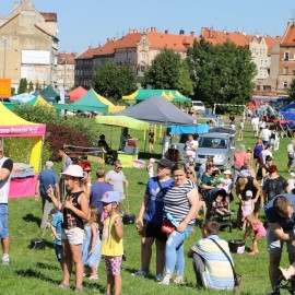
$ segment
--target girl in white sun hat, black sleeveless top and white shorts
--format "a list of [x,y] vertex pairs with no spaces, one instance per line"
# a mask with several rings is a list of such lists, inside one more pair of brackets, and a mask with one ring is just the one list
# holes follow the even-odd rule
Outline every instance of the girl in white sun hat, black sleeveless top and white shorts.
[[88,199],[81,189],[83,169],[79,165],[70,165],[64,173],[68,194],[62,203],[55,197],[50,187],[47,194],[54,204],[63,213],[61,224],[61,240],[63,249],[63,280],[59,284],[60,288],[70,287],[70,276],[72,272],[72,262],[75,266],[75,291],[82,292],[83,263],[81,259],[81,249],[84,236],[84,223],[88,216]]

